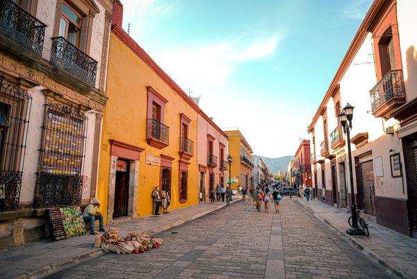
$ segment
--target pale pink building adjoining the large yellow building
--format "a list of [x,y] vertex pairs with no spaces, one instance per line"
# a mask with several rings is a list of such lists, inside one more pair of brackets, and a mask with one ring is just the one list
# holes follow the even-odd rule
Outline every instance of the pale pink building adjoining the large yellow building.
[[227,134],[200,111],[197,141],[199,202],[209,201],[209,192],[216,186],[226,186],[227,138]]

